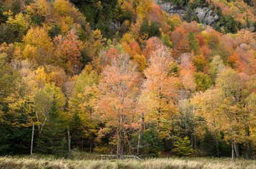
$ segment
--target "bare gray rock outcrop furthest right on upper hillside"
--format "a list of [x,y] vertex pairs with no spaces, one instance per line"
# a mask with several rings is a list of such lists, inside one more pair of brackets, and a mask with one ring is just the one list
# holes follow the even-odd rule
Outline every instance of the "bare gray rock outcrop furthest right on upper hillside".
[[196,14],[200,23],[210,25],[210,26],[213,26],[214,23],[216,23],[216,21],[219,19],[219,16],[215,14],[214,11],[206,7],[203,7],[203,8],[197,7]]

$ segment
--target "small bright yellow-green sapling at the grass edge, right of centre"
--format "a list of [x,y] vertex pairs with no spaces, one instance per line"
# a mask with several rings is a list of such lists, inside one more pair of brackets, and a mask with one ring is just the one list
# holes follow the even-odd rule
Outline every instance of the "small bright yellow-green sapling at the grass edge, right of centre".
[[183,139],[178,138],[174,143],[174,147],[172,152],[175,152],[179,156],[189,156],[193,153],[192,144],[190,143],[188,136]]

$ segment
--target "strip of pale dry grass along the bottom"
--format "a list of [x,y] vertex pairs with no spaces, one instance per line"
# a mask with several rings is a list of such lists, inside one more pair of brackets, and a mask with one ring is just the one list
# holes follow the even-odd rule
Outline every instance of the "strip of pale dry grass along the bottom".
[[0,168],[250,168],[256,169],[256,161],[228,158],[152,158],[136,159],[57,159],[50,156],[0,157]]

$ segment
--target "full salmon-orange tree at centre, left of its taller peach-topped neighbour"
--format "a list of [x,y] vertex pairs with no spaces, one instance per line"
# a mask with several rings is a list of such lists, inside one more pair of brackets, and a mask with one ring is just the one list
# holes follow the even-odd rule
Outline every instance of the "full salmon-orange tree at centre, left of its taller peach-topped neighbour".
[[140,73],[128,55],[121,54],[112,60],[102,72],[99,82],[97,115],[105,128],[99,131],[99,137],[112,136],[112,144],[117,145],[116,153],[123,155],[125,138],[137,128],[136,104],[140,90]]

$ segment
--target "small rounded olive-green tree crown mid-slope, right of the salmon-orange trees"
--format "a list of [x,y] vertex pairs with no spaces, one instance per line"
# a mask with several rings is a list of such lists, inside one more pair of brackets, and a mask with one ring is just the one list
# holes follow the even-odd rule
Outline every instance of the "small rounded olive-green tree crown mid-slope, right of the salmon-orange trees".
[[195,73],[194,77],[195,77],[195,82],[197,83],[198,91],[205,91],[211,87],[212,81],[208,75],[199,72],[199,73]]

